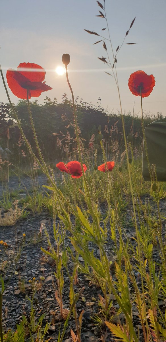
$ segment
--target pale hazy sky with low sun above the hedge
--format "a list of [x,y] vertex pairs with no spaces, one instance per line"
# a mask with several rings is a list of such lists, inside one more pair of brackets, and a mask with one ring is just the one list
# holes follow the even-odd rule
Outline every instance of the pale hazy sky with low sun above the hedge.
[[[166,116],[166,1],[105,0],[105,6],[114,51],[136,16],[125,40],[136,45],[123,45],[117,56],[123,110],[133,111],[135,101],[135,113],[140,112],[140,97],[134,96],[127,84],[131,73],[144,70],[156,80],[150,96],[143,99],[144,110],[153,114],[162,111]],[[99,10],[95,0],[1,0],[0,62],[4,75],[7,68],[16,69],[19,63],[37,63],[47,71],[45,81],[53,88],[37,100],[43,103],[48,96],[61,102],[64,92],[69,98],[71,95],[65,76],[58,76],[54,69],[62,66],[62,54],[69,53],[69,78],[75,97],[96,104],[100,96],[102,107],[119,109],[115,81],[104,73],[109,70],[97,58],[107,55],[102,43],[93,45],[100,37],[84,31],[107,34],[107,30],[101,31],[106,27],[105,19],[95,17]],[[17,103],[19,99],[9,93]],[[2,101],[7,102],[7,97],[0,79]]]

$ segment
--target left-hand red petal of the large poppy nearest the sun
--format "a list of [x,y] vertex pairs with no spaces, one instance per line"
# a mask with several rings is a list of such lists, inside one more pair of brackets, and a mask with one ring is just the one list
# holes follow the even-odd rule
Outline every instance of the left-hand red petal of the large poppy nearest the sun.
[[[26,82],[27,78],[19,75],[16,70],[9,69],[6,72],[6,79],[9,88],[12,93],[16,95],[18,98],[27,99],[27,89],[22,88],[20,82]],[[29,92],[29,98],[31,98],[31,92]]]

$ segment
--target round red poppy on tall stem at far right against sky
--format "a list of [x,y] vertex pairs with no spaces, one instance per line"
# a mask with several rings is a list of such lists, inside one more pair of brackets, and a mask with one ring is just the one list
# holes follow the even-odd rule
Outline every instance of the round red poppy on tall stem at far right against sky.
[[155,86],[155,79],[153,75],[147,75],[144,71],[138,70],[130,75],[128,86],[133,95],[147,97]]

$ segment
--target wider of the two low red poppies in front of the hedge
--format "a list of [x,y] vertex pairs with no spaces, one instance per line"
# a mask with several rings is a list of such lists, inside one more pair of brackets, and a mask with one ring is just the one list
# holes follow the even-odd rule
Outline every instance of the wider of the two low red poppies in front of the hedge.
[[[81,163],[77,160],[69,161],[66,165],[63,162],[59,162],[56,167],[62,171],[70,173],[72,178],[80,178],[83,173],[81,169]],[[84,172],[87,170],[87,167],[85,164],[83,164]]]

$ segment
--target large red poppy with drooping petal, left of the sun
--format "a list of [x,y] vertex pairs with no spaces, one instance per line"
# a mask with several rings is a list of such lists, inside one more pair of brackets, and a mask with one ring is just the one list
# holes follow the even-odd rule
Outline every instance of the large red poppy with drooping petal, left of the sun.
[[31,96],[38,97],[43,91],[52,89],[43,82],[45,74],[45,70],[38,64],[20,63],[17,70],[7,70],[6,78],[12,93],[26,100],[27,90],[29,90],[28,98],[31,98]]

